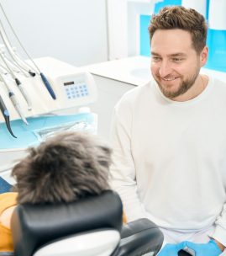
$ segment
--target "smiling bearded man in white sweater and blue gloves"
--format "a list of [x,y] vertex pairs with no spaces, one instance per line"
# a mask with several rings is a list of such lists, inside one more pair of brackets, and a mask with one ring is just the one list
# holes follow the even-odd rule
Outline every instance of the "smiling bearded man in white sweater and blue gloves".
[[161,228],[160,256],[226,246],[226,84],[200,73],[207,30],[193,9],[161,9],[149,27],[154,79],[114,109],[112,185],[129,221]]

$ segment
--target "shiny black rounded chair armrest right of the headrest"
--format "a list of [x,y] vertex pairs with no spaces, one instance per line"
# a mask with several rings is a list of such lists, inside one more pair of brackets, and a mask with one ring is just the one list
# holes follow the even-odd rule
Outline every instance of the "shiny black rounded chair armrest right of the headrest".
[[160,229],[148,219],[131,221],[124,225],[117,256],[139,256],[153,252],[156,255],[163,243]]

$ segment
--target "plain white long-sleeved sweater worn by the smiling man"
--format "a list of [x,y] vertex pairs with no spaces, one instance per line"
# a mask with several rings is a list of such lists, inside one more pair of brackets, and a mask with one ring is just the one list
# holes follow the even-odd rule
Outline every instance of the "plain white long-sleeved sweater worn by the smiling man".
[[196,232],[214,223],[226,246],[226,84],[210,78],[176,102],[153,81],[124,95],[113,115],[112,185],[128,221]]

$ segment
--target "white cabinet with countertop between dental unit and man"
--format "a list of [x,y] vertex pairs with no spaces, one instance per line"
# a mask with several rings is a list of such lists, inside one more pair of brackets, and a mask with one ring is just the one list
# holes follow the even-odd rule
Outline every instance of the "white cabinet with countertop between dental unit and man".
[[124,93],[149,82],[150,58],[134,56],[83,68],[92,73],[97,83],[97,102],[90,107],[98,115],[98,135],[108,141],[113,107]]

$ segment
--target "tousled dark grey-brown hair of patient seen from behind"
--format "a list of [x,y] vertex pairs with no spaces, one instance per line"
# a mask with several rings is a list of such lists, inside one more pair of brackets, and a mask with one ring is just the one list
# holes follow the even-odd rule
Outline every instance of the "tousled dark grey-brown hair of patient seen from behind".
[[29,148],[13,168],[18,203],[70,202],[108,186],[111,149],[97,136],[65,132]]

